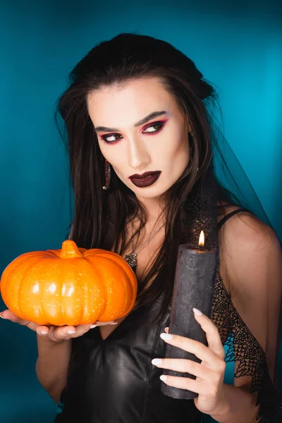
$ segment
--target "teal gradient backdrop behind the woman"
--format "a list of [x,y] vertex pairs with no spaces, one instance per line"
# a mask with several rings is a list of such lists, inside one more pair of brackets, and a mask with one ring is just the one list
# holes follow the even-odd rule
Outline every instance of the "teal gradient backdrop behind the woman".
[[[75,63],[119,32],[171,42],[214,82],[226,138],[282,238],[281,6],[226,3],[0,1],[1,272],[24,252],[61,247],[70,200],[54,103]],[[54,419],[35,376],[35,338],[0,321],[1,423]]]

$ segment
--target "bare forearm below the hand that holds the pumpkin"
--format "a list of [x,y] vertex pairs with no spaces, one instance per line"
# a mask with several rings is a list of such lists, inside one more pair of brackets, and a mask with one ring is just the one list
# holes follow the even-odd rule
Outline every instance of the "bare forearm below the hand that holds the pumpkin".
[[59,403],[61,391],[66,386],[71,342],[67,339],[56,343],[37,334],[37,379],[56,403]]

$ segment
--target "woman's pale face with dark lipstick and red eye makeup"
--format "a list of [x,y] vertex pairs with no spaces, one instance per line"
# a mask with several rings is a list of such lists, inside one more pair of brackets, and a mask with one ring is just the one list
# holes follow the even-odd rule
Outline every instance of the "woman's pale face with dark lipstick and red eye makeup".
[[[158,78],[103,87],[88,95],[87,104],[104,158],[136,197],[158,199],[171,188],[188,166],[190,128]],[[161,173],[149,186],[130,179],[155,171]]]

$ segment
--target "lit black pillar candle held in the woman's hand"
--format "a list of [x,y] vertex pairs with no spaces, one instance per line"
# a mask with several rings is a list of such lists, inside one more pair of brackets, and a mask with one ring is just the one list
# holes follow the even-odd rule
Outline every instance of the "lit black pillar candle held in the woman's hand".
[[[203,245],[204,233],[202,232],[199,246],[183,244],[178,247],[169,333],[195,339],[207,345],[206,334],[195,320],[192,309],[195,307],[210,316],[217,252],[203,247]],[[200,360],[194,354],[169,344],[166,345],[166,358],[182,358],[200,363]],[[164,374],[196,379],[191,374],[167,369],[164,369]],[[161,392],[179,399],[189,400],[197,397],[197,393],[186,389],[173,388],[164,384],[164,382],[161,383]]]

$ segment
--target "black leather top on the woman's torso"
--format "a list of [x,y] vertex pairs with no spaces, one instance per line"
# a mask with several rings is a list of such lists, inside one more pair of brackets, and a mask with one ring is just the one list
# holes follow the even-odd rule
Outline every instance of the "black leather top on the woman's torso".
[[142,307],[102,340],[99,327],[73,339],[73,359],[63,411],[56,423],[199,423],[193,400],[161,393],[163,370],[151,360],[165,357],[160,333],[168,326],[170,309],[159,324],[148,324],[160,307]]

